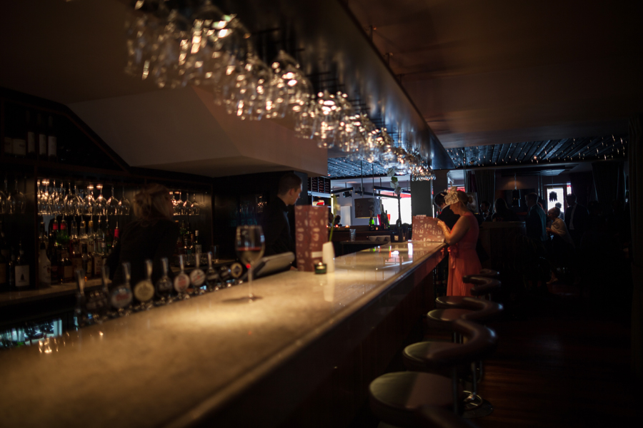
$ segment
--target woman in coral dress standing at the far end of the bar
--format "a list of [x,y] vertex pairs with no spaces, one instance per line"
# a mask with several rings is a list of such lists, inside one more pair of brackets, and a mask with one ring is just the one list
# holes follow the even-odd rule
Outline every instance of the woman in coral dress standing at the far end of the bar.
[[476,253],[479,233],[478,221],[467,208],[467,203],[472,202],[467,193],[452,188],[444,200],[449,203],[451,210],[460,216],[452,230],[449,230],[442,220],[438,220],[438,225],[442,228],[444,238],[449,245],[447,295],[470,296],[472,285],[462,282],[462,277],[475,275],[482,269]]

